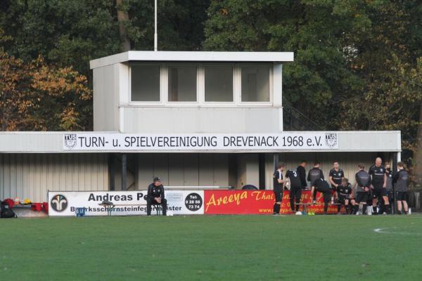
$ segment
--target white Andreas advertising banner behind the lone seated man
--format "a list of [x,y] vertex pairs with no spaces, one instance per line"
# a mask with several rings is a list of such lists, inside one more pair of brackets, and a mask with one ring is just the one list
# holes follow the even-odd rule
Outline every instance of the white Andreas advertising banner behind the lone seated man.
[[[107,216],[101,202],[115,204],[112,216],[146,215],[146,190],[137,191],[49,191],[49,216],[75,216],[84,208],[85,216]],[[174,215],[204,214],[203,190],[165,190],[167,212]],[[152,215],[157,214],[153,205]]]

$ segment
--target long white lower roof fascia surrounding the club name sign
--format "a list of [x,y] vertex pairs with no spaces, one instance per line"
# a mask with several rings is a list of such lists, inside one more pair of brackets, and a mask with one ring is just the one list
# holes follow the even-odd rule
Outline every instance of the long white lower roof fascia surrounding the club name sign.
[[[164,134],[148,134],[148,133],[118,133],[118,132],[101,132],[101,131],[13,131],[0,132],[0,153],[81,153],[81,152],[399,152],[402,150],[401,132],[400,131],[282,131],[276,133],[269,133],[271,135],[286,135],[289,134],[324,134],[322,141],[326,141],[327,134],[335,133],[337,135],[338,148],[334,149],[318,149],[318,148],[295,148],[294,150],[283,148],[266,149],[230,149],[230,150],[191,150],[190,148],[174,148],[174,150],[146,150],[143,148],[131,148],[124,150],[123,148],[113,148],[112,150],[77,150],[77,148],[68,150],[64,148],[65,136],[72,134],[84,137],[98,137],[108,135],[110,138],[122,136],[163,136]],[[219,133],[191,133],[191,134],[174,134],[169,133],[165,136],[211,136],[211,135],[229,135]],[[261,136],[262,133],[234,133],[234,136]],[[282,136],[279,137],[281,140]],[[312,137],[313,138],[313,137]],[[305,143],[305,141],[304,141]],[[119,145],[120,147],[120,145]]]

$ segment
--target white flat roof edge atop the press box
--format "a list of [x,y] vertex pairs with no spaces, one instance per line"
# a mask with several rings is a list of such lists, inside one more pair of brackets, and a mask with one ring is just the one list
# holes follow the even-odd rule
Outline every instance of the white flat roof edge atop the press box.
[[293,52],[127,51],[89,62],[91,70],[129,61],[293,62]]

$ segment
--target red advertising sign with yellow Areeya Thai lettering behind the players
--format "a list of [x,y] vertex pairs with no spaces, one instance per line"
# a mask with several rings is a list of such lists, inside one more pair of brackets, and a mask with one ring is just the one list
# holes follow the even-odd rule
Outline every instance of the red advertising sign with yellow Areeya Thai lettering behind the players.
[[[272,214],[275,202],[272,190],[205,190],[205,214]],[[302,192],[301,202],[310,202],[310,191]],[[302,210],[302,207],[300,207]],[[322,195],[316,195],[316,204],[307,207],[307,211],[321,214],[324,211]],[[342,207],[344,211],[344,207]],[[328,213],[336,214],[337,206],[328,207]],[[289,193],[283,193],[280,214],[292,214],[290,209]]]

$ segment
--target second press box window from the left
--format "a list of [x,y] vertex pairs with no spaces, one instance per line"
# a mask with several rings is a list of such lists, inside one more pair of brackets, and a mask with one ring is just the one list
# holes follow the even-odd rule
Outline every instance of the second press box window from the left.
[[196,66],[168,67],[169,101],[196,101]]

